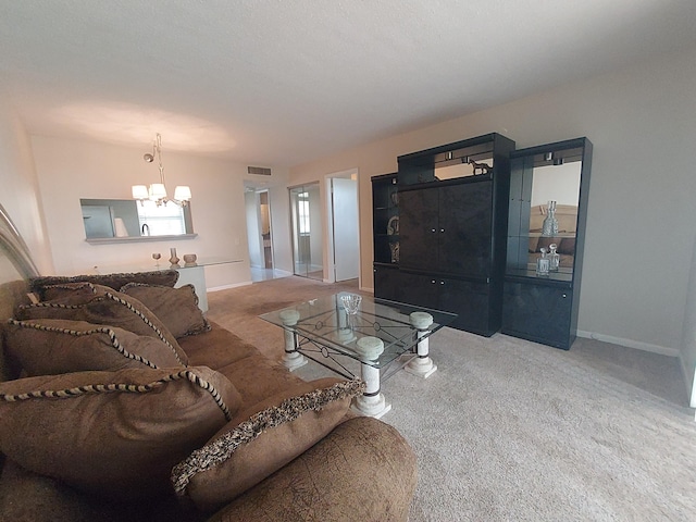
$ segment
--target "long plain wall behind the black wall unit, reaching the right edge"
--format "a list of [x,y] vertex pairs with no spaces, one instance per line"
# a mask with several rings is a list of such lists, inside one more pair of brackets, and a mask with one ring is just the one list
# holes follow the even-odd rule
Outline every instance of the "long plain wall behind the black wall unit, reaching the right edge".
[[518,148],[587,136],[595,148],[579,328],[674,355],[696,223],[695,86],[692,49],[299,165],[290,183],[359,169],[361,286],[371,288],[370,176],[395,172],[397,156],[490,132]]

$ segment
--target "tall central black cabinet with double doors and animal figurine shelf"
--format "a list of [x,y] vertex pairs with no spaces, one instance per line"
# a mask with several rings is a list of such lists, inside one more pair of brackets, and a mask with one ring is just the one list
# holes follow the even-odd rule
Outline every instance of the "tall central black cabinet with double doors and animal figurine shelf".
[[375,243],[375,297],[457,313],[460,330],[499,331],[513,149],[489,134],[398,158],[398,269],[384,273]]

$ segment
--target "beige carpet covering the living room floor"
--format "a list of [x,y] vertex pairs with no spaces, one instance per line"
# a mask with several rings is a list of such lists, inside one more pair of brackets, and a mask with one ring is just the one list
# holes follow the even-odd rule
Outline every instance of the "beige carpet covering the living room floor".
[[[263,282],[210,294],[210,318],[281,357],[282,332],[253,314],[334,291]],[[696,520],[696,423],[675,359],[451,328],[431,349],[428,380],[398,372],[383,384],[393,403],[383,420],[419,458],[412,522]],[[299,371],[323,373],[311,362]]]

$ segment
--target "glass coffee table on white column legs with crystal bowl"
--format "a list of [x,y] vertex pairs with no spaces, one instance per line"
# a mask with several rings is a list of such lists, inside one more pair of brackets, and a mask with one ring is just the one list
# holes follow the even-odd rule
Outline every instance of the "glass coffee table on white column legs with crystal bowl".
[[355,378],[358,375],[349,369],[349,362],[358,361],[366,387],[352,408],[378,419],[391,409],[380,382],[402,368],[423,378],[432,375],[437,366],[428,353],[428,337],[457,314],[339,293],[260,318],[285,331],[283,362],[290,371],[311,359],[346,378]]

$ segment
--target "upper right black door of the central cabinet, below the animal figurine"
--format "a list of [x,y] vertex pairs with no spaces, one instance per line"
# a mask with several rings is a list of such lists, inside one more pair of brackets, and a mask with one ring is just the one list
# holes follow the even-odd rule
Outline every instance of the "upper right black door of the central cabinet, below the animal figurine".
[[439,271],[490,275],[492,197],[490,181],[439,188]]

